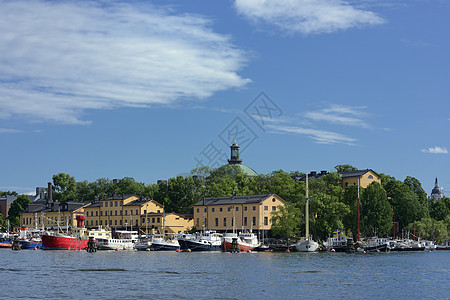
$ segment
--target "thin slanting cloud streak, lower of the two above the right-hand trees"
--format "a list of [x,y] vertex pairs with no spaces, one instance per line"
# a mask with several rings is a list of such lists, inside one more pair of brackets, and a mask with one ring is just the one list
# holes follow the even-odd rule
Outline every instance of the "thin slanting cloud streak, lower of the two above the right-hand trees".
[[331,132],[326,130],[318,130],[311,128],[302,128],[297,126],[283,126],[283,125],[267,125],[267,127],[274,130],[274,133],[290,133],[306,135],[309,138],[315,140],[319,144],[347,144],[355,145],[357,141],[354,138],[345,136],[337,132]]

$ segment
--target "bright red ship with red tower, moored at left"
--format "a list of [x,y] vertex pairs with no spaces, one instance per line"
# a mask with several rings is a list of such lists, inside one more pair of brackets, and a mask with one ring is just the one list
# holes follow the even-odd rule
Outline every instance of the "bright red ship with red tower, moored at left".
[[44,250],[84,250],[89,241],[86,228],[83,228],[85,217],[78,215],[77,228],[72,229],[72,235],[68,234],[50,234],[42,235],[42,249]]

